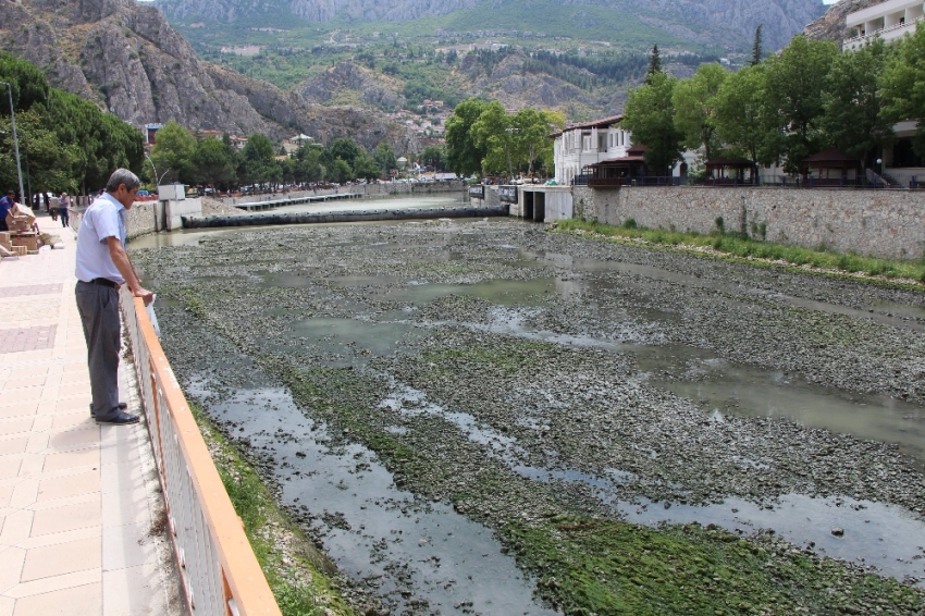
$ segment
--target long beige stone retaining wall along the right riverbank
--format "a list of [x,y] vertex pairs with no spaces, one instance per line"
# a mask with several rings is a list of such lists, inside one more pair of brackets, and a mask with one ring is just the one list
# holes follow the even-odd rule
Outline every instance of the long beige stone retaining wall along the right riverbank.
[[[574,215],[607,224],[627,219],[652,229],[727,232],[807,248],[916,259],[925,254],[925,192],[710,188],[702,186],[572,188]],[[744,224],[743,224],[744,221]]]

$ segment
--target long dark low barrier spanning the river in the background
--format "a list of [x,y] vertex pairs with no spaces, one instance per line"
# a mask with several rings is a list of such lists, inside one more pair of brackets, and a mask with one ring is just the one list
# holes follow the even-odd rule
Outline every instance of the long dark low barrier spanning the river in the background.
[[454,208],[408,208],[403,210],[355,210],[336,212],[259,213],[247,215],[183,217],[187,229],[224,226],[264,226],[271,224],[309,224],[333,222],[370,222],[380,220],[434,220],[441,218],[484,218],[508,215],[505,206],[462,206]]

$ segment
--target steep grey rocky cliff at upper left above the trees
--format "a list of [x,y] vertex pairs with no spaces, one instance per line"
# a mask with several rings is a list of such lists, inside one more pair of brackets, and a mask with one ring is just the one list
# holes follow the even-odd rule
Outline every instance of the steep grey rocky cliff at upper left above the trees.
[[160,11],[132,0],[3,1],[0,35],[3,49],[42,67],[52,85],[137,126],[175,120],[192,130],[276,138],[350,136],[370,148],[414,140],[375,112],[312,104],[201,62]]

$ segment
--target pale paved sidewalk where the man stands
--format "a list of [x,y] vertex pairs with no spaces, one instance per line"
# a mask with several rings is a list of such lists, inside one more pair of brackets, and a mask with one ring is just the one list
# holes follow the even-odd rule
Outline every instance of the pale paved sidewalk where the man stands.
[[89,417],[74,234],[38,222],[64,249],[0,262],[0,616],[182,614],[147,427]]

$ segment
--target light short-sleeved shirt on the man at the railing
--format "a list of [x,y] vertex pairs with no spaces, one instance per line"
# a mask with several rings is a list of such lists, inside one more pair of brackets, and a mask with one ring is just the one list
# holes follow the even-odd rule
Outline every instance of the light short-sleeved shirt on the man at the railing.
[[109,193],[103,193],[84,212],[77,232],[78,280],[90,282],[102,278],[116,284],[125,284],[112,257],[109,255],[107,237],[118,237],[125,247],[125,207]]

